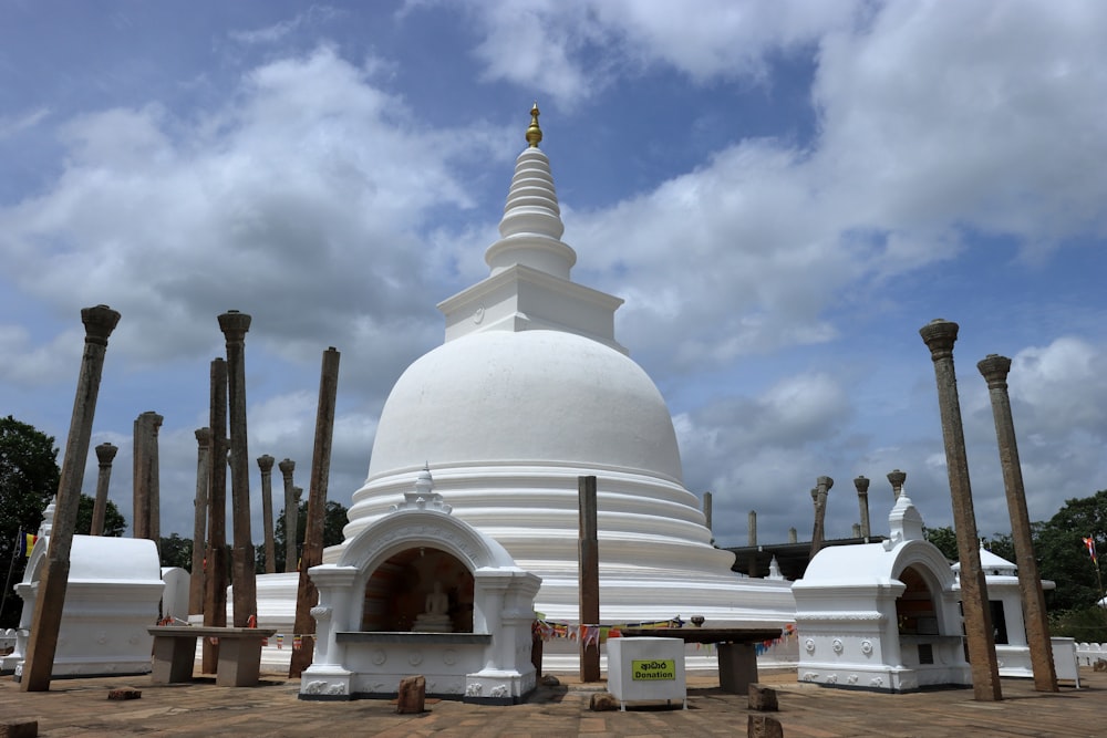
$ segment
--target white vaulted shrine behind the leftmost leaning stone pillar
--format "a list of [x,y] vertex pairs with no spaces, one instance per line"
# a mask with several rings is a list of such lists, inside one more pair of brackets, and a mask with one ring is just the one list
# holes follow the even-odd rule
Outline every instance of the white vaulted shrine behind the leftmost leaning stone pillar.
[[[14,588],[23,610],[15,648],[0,658],[0,674],[14,674],[17,682],[23,671],[53,517],[51,502],[23,580]],[[154,541],[74,536],[51,678],[149,674],[154,636],[146,628],[157,623],[164,590]]]

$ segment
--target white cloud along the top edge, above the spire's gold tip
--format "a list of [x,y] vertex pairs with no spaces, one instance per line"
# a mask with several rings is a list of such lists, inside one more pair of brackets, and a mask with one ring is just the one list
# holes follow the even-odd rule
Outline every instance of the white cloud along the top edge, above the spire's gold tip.
[[665,66],[699,84],[766,82],[767,59],[853,21],[860,3],[695,3],[572,0],[467,6],[483,33],[489,80],[507,80],[573,107],[620,77]]

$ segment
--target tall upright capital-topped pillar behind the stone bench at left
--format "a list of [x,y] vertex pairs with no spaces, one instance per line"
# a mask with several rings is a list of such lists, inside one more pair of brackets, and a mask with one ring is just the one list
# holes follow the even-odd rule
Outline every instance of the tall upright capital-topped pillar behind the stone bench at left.
[[235,532],[231,550],[235,627],[246,627],[258,612],[254,541],[250,533],[250,453],[246,430],[246,332],[250,316],[237,310],[219,315],[227,339],[227,406],[230,416],[230,511]]

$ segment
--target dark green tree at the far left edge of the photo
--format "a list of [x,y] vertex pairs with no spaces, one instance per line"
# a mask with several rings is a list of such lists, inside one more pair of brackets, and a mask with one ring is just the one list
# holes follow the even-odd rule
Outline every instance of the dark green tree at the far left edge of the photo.
[[[53,436],[10,415],[0,418],[0,584],[22,579],[27,558],[19,553],[20,533],[39,530],[60,477]],[[19,597],[4,599],[0,627],[15,627],[21,607]]]

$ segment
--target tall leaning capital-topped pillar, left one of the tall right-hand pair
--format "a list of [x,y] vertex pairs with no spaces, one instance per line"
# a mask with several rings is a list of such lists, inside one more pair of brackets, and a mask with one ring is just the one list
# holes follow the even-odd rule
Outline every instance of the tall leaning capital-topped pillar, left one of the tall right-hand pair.
[[[961,560],[961,604],[969,642],[973,694],[980,701],[1000,700],[1003,699],[1003,694],[995,659],[992,612],[987,602],[984,570],[980,564],[980,539],[976,536],[969,458],[965,454],[964,428],[961,425],[961,401],[958,397],[958,380],[953,368],[958,324],[944,320],[931,321],[920,329],[919,334],[930,349],[938,383],[938,407],[942,418],[945,466],[953,500],[953,528],[958,536],[958,554]],[[891,479],[891,475],[889,481],[892,481],[894,488],[896,481]]]

